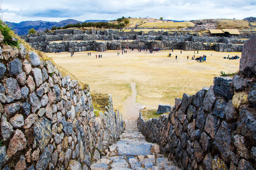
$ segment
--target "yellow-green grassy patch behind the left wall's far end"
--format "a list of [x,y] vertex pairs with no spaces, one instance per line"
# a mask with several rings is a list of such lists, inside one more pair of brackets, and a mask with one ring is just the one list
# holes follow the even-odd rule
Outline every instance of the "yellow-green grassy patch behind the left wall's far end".
[[100,112],[104,113],[108,111],[105,107],[108,106],[109,103],[109,95],[102,93],[91,93],[92,97],[92,105],[94,108],[94,114],[98,117]]

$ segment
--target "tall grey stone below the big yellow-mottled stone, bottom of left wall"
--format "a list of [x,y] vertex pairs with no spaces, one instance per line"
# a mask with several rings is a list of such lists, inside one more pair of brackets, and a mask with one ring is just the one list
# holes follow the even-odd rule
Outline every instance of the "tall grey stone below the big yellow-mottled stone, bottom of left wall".
[[36,169],[46,169],[48,164],[51,161],[51,152],[48,147],[45,147],[44,149],[42,148],[43,153],[40,156],[39,160],[36,163]]

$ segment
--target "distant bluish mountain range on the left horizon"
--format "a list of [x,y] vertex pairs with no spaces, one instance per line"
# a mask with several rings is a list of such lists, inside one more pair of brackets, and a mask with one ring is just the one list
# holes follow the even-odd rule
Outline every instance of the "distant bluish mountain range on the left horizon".
[[[86,20],[84,22],[109,22],[108,20]],[[68,24],[83,23],[73,19],[68,19],[60,22],[49,21],[22,21],[20,23],[6,22],[12,27],[18,35],[27,35],[28,30],[34,28],[36,31],[45,31],[47,28],[50,30],[52,27],[63,27]]]

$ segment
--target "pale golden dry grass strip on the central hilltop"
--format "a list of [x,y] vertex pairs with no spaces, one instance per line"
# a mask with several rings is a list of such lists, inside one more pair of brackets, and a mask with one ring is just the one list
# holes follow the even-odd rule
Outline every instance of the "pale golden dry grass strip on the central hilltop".
[[192,27],[192,26],[195,26],[195,24],[192,23],[192,22],[186,21],[186,22],[180,22],[180,23],[174,23],[174,22],[145,23],[145,24],[140,25],[139,27],[176,28],[176,29],[179,29],[179,28],[186,28],[186,27]]

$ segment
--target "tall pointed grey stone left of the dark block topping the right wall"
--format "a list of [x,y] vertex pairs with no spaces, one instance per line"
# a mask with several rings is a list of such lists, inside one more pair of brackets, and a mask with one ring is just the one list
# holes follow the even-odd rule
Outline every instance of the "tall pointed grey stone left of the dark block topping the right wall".
[[214,95],[213,86],[211,86],[203,100],[204,110],[210,113],[215,105],[215,102],[216,96]]

